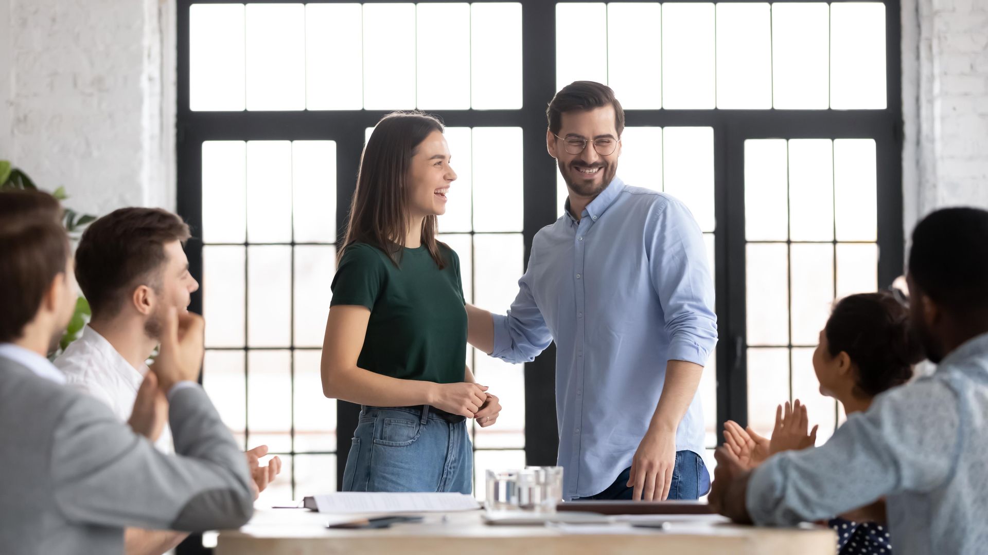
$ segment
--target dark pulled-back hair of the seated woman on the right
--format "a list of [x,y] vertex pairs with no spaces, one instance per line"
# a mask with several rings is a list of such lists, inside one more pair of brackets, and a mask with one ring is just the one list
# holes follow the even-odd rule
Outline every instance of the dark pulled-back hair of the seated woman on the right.
[[909,307],[889,291],[842,298],[824,334],[831,357],[844,352],[858,365],[855,385],[870,397],[909,381],[913,365],[923,359],[909,325]]

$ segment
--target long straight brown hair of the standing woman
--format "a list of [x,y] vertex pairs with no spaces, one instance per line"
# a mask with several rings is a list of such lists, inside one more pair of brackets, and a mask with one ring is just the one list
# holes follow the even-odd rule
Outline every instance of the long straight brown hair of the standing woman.
[[[443,132],[442,121],[422,112],[394,112],[374,126],[361,156],[357,191],[350,205],[350,221],[343,248],[354,243],[368,243],[387,253],[399,266],[408,230],[408,170],[422,141],[433,131]],[[446,261],[436,240],[435,215],[422,222],[422,244],[440,269]]]

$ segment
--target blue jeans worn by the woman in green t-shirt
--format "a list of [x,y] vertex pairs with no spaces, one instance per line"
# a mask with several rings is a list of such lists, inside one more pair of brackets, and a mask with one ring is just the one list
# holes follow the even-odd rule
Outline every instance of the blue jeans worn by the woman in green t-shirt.
[[463,417],[429,407],[362,407],[343,491],[469,494],[472,473]]

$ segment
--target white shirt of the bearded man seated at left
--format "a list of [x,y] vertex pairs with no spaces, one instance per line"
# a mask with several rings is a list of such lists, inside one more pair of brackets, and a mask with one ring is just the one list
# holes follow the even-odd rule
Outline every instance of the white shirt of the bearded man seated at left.
[[[147,365],[134,368],[114,346],[88,325],[82,337],[72,342],[54,365],[65,374],[68,385],[103,401],[126,422],[137,399],[137,389],[148,372]],[[165,424],[154,446],[175,452],[171,430]]]

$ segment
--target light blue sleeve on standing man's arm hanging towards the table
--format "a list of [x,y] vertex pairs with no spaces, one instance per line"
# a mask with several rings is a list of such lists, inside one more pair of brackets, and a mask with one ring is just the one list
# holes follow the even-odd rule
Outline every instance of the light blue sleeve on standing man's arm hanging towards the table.
[[706,365],[717,344],[714,287],[700,226],[685,204],[669,198],[646,234],[652,285],[671,338],[667,360]]

